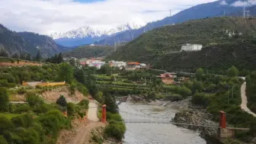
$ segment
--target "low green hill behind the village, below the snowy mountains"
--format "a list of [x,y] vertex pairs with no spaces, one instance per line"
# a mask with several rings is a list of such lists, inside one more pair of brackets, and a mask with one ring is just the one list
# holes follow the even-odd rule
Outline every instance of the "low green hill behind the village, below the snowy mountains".
[[114,46],[79,46],[78,48],[64,53],[67,57],[87,58],[109,56],[114,52]]

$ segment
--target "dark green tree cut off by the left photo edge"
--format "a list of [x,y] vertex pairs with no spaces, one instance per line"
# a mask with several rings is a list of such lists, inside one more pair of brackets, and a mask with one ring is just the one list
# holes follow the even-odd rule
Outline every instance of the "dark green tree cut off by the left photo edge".
[[6,88],[0,88],[0,111],[9,109],[9,95]]

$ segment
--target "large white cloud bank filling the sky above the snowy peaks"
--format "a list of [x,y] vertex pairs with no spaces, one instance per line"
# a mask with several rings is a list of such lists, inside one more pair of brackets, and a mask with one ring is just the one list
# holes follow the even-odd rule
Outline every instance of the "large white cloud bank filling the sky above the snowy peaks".
[[105,0],[81,3],[72,0],[0,0],[0,23],[11,30],[40,34],[65,32],[82,26],[114,27],[130,21],[156,21],[215,0]]

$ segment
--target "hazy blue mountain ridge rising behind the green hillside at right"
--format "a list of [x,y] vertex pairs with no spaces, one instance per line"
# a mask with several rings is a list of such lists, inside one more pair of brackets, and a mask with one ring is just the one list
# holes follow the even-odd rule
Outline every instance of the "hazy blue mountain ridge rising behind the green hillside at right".
[[[200,19],[200,18],[212,18],[216,16],[226,15],[234,15],[234,16],[242,16],[242,7],[235,7],[232,4],[237,2],[238,0],[219,0],[216,2],[209,2],[201,5],[196,5],[191,8],[187,8],[184,11],[178,12],[178,14],[174,14],[172,17],[167,17],[162,19],[161,21],[154,21],[146,24],[145,27],[141,27],[138,30],[128,30],[122,34],[114,35],[113,37],[107,37],[104,40],[100,40],[98,45],[114,45],[114,43],[119,42],[129,42],[136,37],[139,37],[140,34],[143,34],[146,31],[152,30],[156,27],[163,27],[168,24],[179,24],[184,21]],[[251,7],[249,9],[253,9]],[[255,12],[251,12],[252,15],[256,15]],[[118,41],[117,41],[118,40]]]

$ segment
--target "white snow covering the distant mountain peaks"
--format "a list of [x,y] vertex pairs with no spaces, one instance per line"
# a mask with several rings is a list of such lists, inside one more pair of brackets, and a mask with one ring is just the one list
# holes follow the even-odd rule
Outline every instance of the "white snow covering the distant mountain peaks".
[[53,37],[53,39],[59,39],[59,38],[69,38],[69,39],[75,39],[75,38],[84,38],[84,37],[102,37],[102,36],[110,36],[112,34],[117,34],[126,30],[133,30],[138,29],[140,27],[143,27],[145,24],[142,22],[136,23],[136,22],[129,22],[127,24],[121,24],[117,27],[111,28],[111,29],[105,29],[102,30],[97,27],[79,27],[75,30],[69,30],[65,33],[53,33],[50,34],[50,37]]

